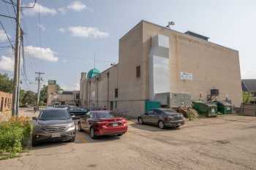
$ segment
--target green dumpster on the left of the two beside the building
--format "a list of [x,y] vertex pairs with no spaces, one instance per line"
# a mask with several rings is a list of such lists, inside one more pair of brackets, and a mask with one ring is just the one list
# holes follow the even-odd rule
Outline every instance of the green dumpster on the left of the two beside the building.
[[217,116],[217,104],[204,101],[192,101],[192,107],[200,115],[206,115],[207,117]]

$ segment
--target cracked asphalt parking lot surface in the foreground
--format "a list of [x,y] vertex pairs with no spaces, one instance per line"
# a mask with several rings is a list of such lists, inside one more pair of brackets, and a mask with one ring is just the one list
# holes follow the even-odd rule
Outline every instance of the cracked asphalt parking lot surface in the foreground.
[[256,169],[256,117],[225,116],[187,121],[160,130],[129,122],[121,137],[32,147],[20,158],[0,161],[0,169]]

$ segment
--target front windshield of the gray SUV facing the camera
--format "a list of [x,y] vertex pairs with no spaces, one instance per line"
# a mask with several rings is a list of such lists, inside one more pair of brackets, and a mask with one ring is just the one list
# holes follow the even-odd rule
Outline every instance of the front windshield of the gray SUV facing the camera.
[[69,114],[66,110],[44,110],[39,120],[66,120],[69,118]]

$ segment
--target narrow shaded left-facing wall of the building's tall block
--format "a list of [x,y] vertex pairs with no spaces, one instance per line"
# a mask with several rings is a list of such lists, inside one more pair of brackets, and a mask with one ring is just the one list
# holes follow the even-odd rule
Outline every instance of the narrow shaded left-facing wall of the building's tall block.
[[[146,59],[143,58],[143,27],[138,23],[119,39],[118,109],[129,115],[144,112],[146,98]],[[140,66],[140,77],[136,77],[136,66]]]

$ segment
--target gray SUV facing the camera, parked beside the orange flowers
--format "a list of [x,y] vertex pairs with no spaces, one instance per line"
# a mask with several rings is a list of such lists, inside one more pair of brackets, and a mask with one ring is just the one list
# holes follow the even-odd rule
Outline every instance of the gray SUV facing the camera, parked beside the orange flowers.
[[66,108],[44,109],[39,113],[32,134],[32,144],[47,141],[75,141],[76,127]]

